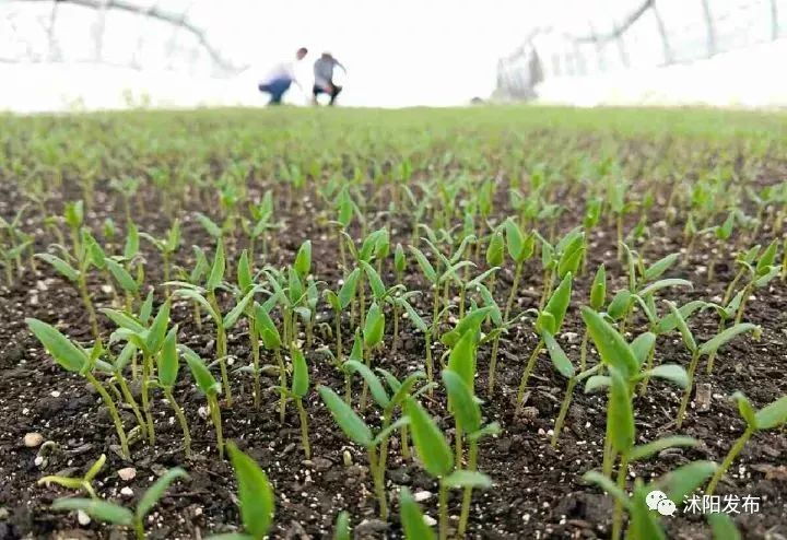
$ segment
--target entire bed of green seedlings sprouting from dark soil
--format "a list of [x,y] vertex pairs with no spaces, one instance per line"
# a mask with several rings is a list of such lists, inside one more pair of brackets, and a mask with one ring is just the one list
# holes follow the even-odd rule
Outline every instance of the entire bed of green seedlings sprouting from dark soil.
[[785,125],[0,119],[0,538],[787,535]]

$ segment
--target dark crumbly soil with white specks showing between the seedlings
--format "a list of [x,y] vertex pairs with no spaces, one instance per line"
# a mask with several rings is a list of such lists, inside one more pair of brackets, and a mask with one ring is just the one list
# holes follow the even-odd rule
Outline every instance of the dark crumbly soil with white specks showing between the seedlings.
[[[259,186],[262,185],[259,183]],[[102,184],[96,191],[99,195],[108,192]],[[142,196],[144,202],[136,220],[141,230],[161,235],[168,222],[156,211],[156,196],[150,192],[143,192]],[[78,193],[67,193],[63,200],[78,197]],[[501,198],[504,198],[503,193]],[[105,216],[111,215],[117,223],[122,223],[122,212],[115,199],[114,196],[104,195],[101,204],[95,206],[97,215],[90,215],[89,222],[97,225]],[[0,213],[5,218],[11,216],[13,209],[22,203],[13,183],[0,188]],[[577,204],[576,208],[582,207]],[[185,220],[184,248],[178,262],[187,268],[190,262],[188,246],[212,246],[199,225],[189,221],[189,211],[198,209],[204,210],[195,202],[193,208],[181,213]],[[59,211],[58,204],[52,203],[51,210]],[[301,203],[292,209],[277,208],[277,215],[283,220],[286,234],[280,236],[277,245],[271,246],[267,258],[260,255],[257,267],[266,262],[279,265],[291,261],[301,242],[310,238],[314,243],[315,275],[336,284],[340,277],[336,236],[329,225],[320,224],[321,211],[320,203],[307,198],[302,198]],[[655,219],[651,222],[658,220],[658,214],[659,210],[654,210]],[[629,225],[633,225],[636,216],[632,220]],[[567,231],[574,226],[576,218],[566,215],[563,221],[561,228]],[[404,221],[393,225],[395,230],[398,228],[392,234],[393,243],[407,243],[410,237],[409,225]],[[40,227],[40,223],[32,220],[27,228],[31,226]],[[611,231],[603,226],[600,230]],[[653,236],[643,249],[650,261],[682,248],[681,224],[653,225]],[[38,232],[37,237],[39,250],[52,242],[43,231]],[[770,231],[764,228],[757,240],[764,243],[767,239]],[[566,352],[574,359],[578,357],[583,331],[578,307],[588,297],[592,270],[604,261],[608,274],[616,277],[610,290],[614,291],[624,284],[620,266],[614,262],[613,235],[596,232],[590,242],[589,271],[576,282],[569,315],[563,334],[559,337]],[[230,246],[230,253],[235,256],[240,247]],[[115,249],[119,251],[121,247],[116,245]],[[160,259],[150,245],[143,244],[143,249],[149,257],[148,282],[158,283]],[[691,258],[669,273],[670,277],[690,279],[695,284],[691,292],[671,291],[670,298],[681,302],[707,300],[724,292],[732,279],[732,269],[719,265],[716,280],[707,283],[701,266],[707,265],[708,253],[708,246],[696,246]],[[235,259],[231,257],[230,260]],[[426,290],[416,267],[413,265],[410,270],[407,286]],[[505,302],[512,279],[512,269],[508,268],[498,280],[498,302]],[[391,274],[387,275],[387,282],[392,282]],[[102,292],[102,284],[99,280],[91,283],[97,307],[111,303],[110,295]],[[519,296],[521,309],[538,304],[540,286],[539,261],[531,260],[526,268]],[[129,506],[163,470],[183,466],[189,472],[190,480],[174,484],[151,514],[146,526],[151,538],[200,538],[239,526],[232,469],[228,462],[218,459],[213,430],[209,421],[198,413],[205,402],[195,390],[186,369],[181,371],[176,397],[188,414],[195,456],[189,460],[184,459],[179,426],[162,396],[156,395],[153,404],[156,445],[151,448],[143,442],[137,443],[132,447],[132,460],[127,462],[113,449],[117,443],[115,431],[97,395],[83,379],[57,366],[24,325],[24,317],[37,317],[58,324],[72,338],[89,339],[90,326],[77,291],[44,263],[38,265],[36,272],[27,271],[11,289],[3,287],[0,291],[0,477],[3,479],[0,486],[0,509],[3,514],[0,519],[0,539],[122,538],[121,529],[97,525],[95,521],[81,527],[73,514],[49,510],[48,506],[54,498],[71,495],[72,492],[57,486],[36,485],[36,480],[44,474],[81,472],[102,453],[107,455],[107,462],[97,477],[96,491],[102,496],[121,501]],[[162,294],[158,287],[158,300]],[[762,325],[762,340],[736,340],[723,349],[712,376],[706,376],[702,368],[698,384],[709,385],[712,399],[707,410],[691,408],[682,430],[677,431],[674,427],[679,390],[654,381],[647,397],[636,400],[637,438],[641,442],[683,433],[698,438],[702,444],[693,449],[669,450],[658,459],[637,463],[632,468],[632,474],[648,479],[696,459],[720,461],[743,429],[736,406],[727,397],[736,390],[742,390],[757,407],[762,407],[787,394],[787,379],[784,377],[787,360],[786,294],[784,283],[778,280],[767,291],[756,292],[756,297],[749,304],[747,319]],[[424,296],[426,298],[423,301],[427,302],[428,294]],[[422,309],[428,309],[426,304]],[[190,314],[189,306],[183,303],[174,309],[173,318],[180,325],[179,340],[210,357],[212,327],[205,321],[202,331],[199,331]],[[320,318],[332,321],[332,314],[327,306],[321,307]],[[633,331],[644,330],[643,322],[639,318]],[[102,333],[108,336],[113,330],[111,324],[101,316],[99,324]],[[389,352],[392,345],[389,331],[388,341],[374,359],[375,365],[389,368],[399,376],[421,367],[424,357],[422,336],[413,333],[406,320],[401,326],[402,343],[399,350],[395,354]],[[692,328],[703,339],[715,331],[716,320],[710,314],[703,314],[692,319]],[[344,336],[352,336],[352,331],[348,324]],[[307,351],[313,383],[341,388],[339,374],[316,352],[324,342],[332,345],[332,341],[324,341],[319,328],[315,341]],[[504,431],[482,444],[479,467],[492,477],[495,485],[492,490],[474,494],[470,536],[484,539],[606,538],[611,521],[611,500],[600,490],[585,485],[582,481],[584,472],[600,468],[606,398],[603,395],[587,396],[578,389],[560,446],[556,450],[552,449],[549,445],[550,430],[565,391],[565,380],[554,371],[545,355],[539,361],[531,379],[524,413],[519,416],[514,414],[516,388],[524,363],[535,344],[531,320],[524,321],[504,339],[498,363],[498,385],[491,397],[483,396],[482,391],[486,387],[489,349],[482,348],[479,352],[480,376],[477,388],[486,400],[483,412],[488,421],[500,421]],[[243,325],[231,332],[230,349],[239,359],[236,367],[248,362],[249,345]],[[435,357],[439,357],[442,352],[438,345]],[[265,360],[272,363],[272,359],[267,355]],[[688,363],[689,357],[677,334],[659,339],[657,360]],[[590,362],[596,362],[595,354],[590,355]],[[265,379],[266,386],[273,384],[275,381],[272,378]],[[355,386],[357,390],[359,385]],[[287,409],[284,425],[278,422],[275,392],[266,392],[261,409],[255,410],[250,379],[240,373],[233,376],[233,395],[236,402],[222,412],[224,436],[247,450],[274,484],[277,516],[272,538],[329,538],[333,519],[342,509],[350,510],[359,537],[399,538],[401,530],[396,523],[396,490],[399,485],[408,485],[413,491],[432,492],[433,496],[422,503],[422,507],[426,514],[436,518],[436,485],[419,466],[402,462],[397,451],[398,441],[392,442],[387,474],[392,517],[390,524],[384,524],[376,519],[365,454],[350,444],[333,424],[315,392],[305,403],[310,419],[314,453],[310,461],[304,460],[297,415],[293,407]],[[430,407],[433,413],[442,416],[443,427],[450,433],[451,423],[444,403],[435,400]],[[130,412],[124,411],[124,415],[126,425],[133,425]],[[366,411],[366,420],[372,424],[378,422],[374,408]],[[24,435],[28,432],[38,432],[45,441],[57,444],[42,466],[35,462],[37,449],[23,445]],[[344,463],[344,453],[352,457],[352,465]],[[720,494],[761,497],[759,513],[736,518],[744,538],[775,539],[787,536],[787,520],[784,517],[787,512],[786,457],[787,436],[783,430],[757,435],[720,485]],[[136,468],[133,480],[119,479],[117,471],[125,467]],[[126,497],[120,493],[125,486],[133,491],[132,496]],[[451,494],[453,519],[458,517],[460,496],[460,492]],[[681,514],[665,518],[663,521],[671,538],[708,537],[708,529],[701,517]]]

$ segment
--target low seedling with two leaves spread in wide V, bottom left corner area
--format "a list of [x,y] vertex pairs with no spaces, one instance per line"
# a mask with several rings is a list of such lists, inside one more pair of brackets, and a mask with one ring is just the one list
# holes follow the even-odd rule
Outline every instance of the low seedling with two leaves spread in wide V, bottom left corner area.
[[169,469],[142,494],[133,512],[125,506],[101,498],[58,498],[52,503],[51,508],[54,510],[82,510],[99,521],[131,527],[137,540],[144,540],[145,516],[148,516],[158,501],[161,501],[167,488],[169,488],[169,484],[177,479],[188,478],[186,471],[179,467]]

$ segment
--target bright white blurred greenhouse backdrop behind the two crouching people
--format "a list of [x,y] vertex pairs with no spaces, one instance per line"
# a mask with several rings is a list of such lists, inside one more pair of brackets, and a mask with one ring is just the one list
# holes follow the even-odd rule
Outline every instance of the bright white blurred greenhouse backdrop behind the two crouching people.
[[0,110],[263,106],[297,47],[345,106],[787,105],[787,0],[0,0]]

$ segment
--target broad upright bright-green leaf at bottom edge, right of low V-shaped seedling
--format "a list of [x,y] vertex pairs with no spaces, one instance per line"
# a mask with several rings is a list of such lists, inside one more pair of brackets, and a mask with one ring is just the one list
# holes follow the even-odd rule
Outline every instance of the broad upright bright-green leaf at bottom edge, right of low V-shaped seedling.
[[275,497],[268,476],[233,442],[227,443],[230,460],[238,484],[240,520],[245,532],[228,532],[208,537],[209,540],[263,540],[273,525]]

